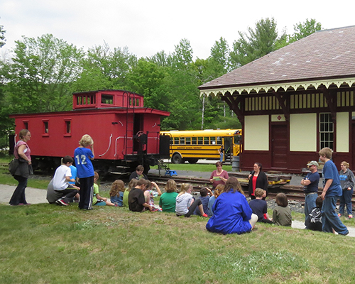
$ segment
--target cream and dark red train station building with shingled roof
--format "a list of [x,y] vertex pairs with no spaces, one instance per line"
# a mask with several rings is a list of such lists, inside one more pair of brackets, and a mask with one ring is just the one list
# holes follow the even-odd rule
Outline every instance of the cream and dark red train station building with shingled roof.
[[317,31],[199,89],[238,116],[241,170],[300,173],[323,147],[355,168],[355,26]]

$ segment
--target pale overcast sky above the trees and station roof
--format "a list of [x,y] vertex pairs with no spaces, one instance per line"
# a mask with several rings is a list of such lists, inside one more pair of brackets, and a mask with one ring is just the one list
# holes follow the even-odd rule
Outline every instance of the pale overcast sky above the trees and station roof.
[[173,53],[182,38],[190,41],[194,58],[206,59],[223,37],[231,48],[238,31],[255,28],[261,18],[274,18],[278,31],[314,18],[322,28],[355,25],[355,1],[329,0],[0,0],[0,25],[6,30],[9,54],[22,35],[56,38],[87,50],[107,43],[129,48],[138,58],[164,50]]

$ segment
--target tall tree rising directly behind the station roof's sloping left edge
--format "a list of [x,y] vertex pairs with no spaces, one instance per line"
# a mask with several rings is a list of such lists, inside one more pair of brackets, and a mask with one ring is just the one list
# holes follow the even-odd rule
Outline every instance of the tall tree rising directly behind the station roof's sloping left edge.
[[275,44],[279,39],[274,18],[261,19],[256,23],[254,30],[249,27],[248,33],[239,31],[239,36],[239,40],[234,41],[230,53],[234,67],[246,65],[276,50]]

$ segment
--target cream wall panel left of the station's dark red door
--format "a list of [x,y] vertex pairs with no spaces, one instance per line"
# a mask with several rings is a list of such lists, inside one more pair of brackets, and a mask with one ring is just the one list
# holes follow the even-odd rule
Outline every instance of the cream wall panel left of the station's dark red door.
[[268,115],[245,116],[244,150],[268,151],[269,145]]

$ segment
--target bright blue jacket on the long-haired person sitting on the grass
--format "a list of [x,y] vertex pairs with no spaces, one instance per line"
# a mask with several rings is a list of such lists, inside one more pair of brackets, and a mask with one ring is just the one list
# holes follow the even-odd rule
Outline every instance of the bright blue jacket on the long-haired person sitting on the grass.
[[251,208],[240,192],[224,192],[214,202],[214,215],[206,225],[208,231],[222,234],[243,234],[251,231]]

